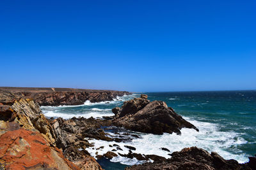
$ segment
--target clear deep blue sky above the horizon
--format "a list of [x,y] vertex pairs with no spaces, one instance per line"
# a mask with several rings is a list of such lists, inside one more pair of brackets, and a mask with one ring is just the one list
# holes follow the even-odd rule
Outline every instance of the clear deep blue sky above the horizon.
[[0,1],[0,86],[256,89],[256,1]]

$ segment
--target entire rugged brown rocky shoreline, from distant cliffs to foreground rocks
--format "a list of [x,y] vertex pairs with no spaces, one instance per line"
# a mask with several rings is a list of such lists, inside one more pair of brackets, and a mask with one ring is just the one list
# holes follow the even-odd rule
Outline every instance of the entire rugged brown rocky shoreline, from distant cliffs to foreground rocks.
[[[55,91],[54,91],[55,90]],[[76,105],[91,102],[111,101],[116,96],[130,94],[118,91],[88,91],[69,89],[1,89],[0,91],[0,169],[102,169],[86,151],[93,147],[90,139],[103,141],[131,141],[139,138],[134,134],[108,134],[109,128],[125,127],[131,131],[152,134],[177,133],[180,129],[198,129],[177,115],[161,101],[148,101],[146,95],[125,101],[121,108],[113,108],[114,117],[47,119],[40,106]],[[115,127],[113,127],[113,125]],[[124,138],[125,136],[125,138]],[[100,150],[99,146],[95,150]],[[250,162],[239,164],[225,160],[218,153],[191,147],[170,153],[170,159],[157,155],[136,153],[136,148],[125,145],[129,153],[118,153],[119,145],[97,159],[116,156],[151,161],[127,169],[255,169],[255,157]],[[167,148],[161,148],[168,152]],[[32,160],[32,161],[31,161]],[[154,161],[154,162],[152,162]]]

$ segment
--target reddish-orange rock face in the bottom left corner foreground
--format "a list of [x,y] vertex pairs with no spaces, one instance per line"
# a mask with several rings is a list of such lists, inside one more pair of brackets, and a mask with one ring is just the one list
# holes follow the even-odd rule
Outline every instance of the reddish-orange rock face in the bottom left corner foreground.
[[0,136],[0,158],[6,169],[79,169],[39,132],[18,129]]

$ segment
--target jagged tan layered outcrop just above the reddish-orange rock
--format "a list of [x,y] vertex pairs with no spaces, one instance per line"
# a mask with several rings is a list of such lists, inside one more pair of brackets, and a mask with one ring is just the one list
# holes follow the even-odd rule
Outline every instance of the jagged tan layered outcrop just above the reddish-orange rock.
[[54,145],[54,132],[38,104],[34,103],[32,99],[20,99],[10,93],[0,94],[0,99],[2,102],[0,104],[0,120],[17,122],[24,129],[40,132],[49,143]]

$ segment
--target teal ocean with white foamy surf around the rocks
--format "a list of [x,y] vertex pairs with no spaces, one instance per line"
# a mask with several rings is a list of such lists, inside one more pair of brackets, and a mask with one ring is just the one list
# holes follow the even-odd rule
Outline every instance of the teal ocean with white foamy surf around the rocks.
[[[123,150],[119,153],[128,153],[124,145],[134,146],[135,153],[155,154],[169,158],[169,152],[161,150],[168,148],[170,152],[180,151],[182,148],[197,146],[208,152],[217,152],[225,159],[236,159],[243,163],[248,161],[248,156],[256,154],[256,90],[243,91],[211,91],[211,92],[147,92],[150,101],[164,101],[176,113],[195,125],[194,129],[182,129],[181,135],[166,134],[154,135],[131,132],[140,136],[126,143],[114,141],[100,141],[92,139],[94,147],[86,148],[92,156],[95,152],[103,155],[111,151],[109,145],[117,144]],[[114,115],[112,108],[122,106],[122,103],[140,93],[129,96],[117,97],[114,101],[90,103],[86,101],[79,106],[42,106],[46,117],[95,117]],[[125,133],[125,129],[118,129]],[[115,136],[115,132],[108,131]],[[100,150],[95,150],[104,146]],[[117,153],[117,152],[116,152]],[[143,161],[114,157],[98,160],[104,169],[124,169],[125,166],[141,164]]]

